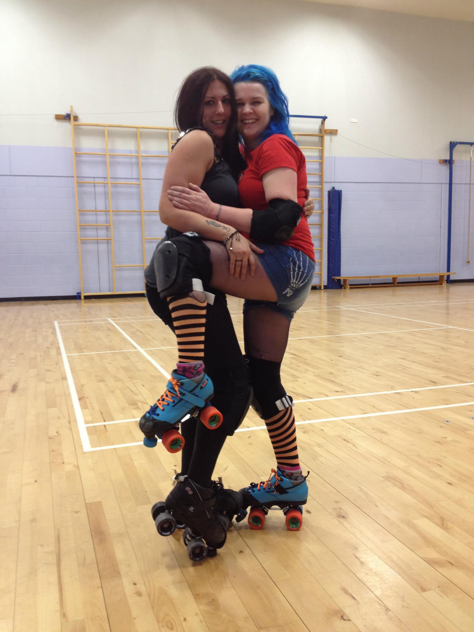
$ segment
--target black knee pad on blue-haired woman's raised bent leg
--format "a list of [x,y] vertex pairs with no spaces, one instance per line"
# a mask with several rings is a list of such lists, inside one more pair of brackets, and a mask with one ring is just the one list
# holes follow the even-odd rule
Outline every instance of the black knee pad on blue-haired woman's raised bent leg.
[[163,241],[153,258],[156,286],[161,298],[191,292],[193,279],[200,279],[203,284],[210,283],[210,250],[197,233],[183,233]]

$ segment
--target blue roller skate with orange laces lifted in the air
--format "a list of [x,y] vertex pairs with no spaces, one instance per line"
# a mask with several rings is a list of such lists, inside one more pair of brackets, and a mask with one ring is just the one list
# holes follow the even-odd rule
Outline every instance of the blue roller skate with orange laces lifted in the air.
[[186,415],[199,416],[207,428],[218,428],[222,423],[222,415],[209,404],[213,396],[214,386],[207,374],[204,373],[197,384],[173,371],[164,394],[140,419],[140,430],[145,435],[143,445],[155,447],[158,439],[161,439],[168,452],[182,450],[185,440],[178,425]]

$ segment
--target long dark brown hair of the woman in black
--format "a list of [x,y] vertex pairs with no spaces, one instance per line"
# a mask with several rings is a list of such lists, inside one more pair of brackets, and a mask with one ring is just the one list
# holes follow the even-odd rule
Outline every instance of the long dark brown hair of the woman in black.
[[214,66],[197,68],[188,75],[181,88],[174,106],[174,123],[179,131],[189,130],[191,127],[202,126],[204,111],[204,97],[213,81],[224,83],[231,102],[231,118],[224,138],[222,139],[222,158],[231,167],[234,178],[245,168],[245,162],[239,150],[239,135],[237,131],[237,104],[234,86],[231,78]]

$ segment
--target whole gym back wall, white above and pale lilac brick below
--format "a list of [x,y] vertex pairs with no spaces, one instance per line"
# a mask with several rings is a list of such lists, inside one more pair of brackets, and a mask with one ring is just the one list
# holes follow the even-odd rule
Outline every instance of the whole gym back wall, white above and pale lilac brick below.
[[[473,23],[298,0],[3,0],[0,298],[80,289],[70,125],[55,113],[73,104],[82,121],[171,125],[191,70],[243,63],[274,68],[293,114],[327,114],[339,130],[326,138],[325,181],[343,190],[342,272],[445,272],[448,172],[438,159],[450,140],[474,140]],[[82,128],[76,145],[100,149],[102,135]],[[165,150],[165,141],[143,133],[142,150]],[[135,139],[113,131],[110,147],[134,149]],[[134,161],[115,158],[113,177],[136,179]],[[160,161],[147,161],[143,175],[150,210]],[[459,150],[451,270],[472,279],[463,161]],[[104,179],[102,159],[82,156],[78,168]],[[103,188],[80,187],[80,208],[97,210],[89,222],[107,221]],[[137,187],[113,187],[112,208],[140,208]],[[114,216],[116,263],[142,262],[140,230],[139,215]],[[147,236],[163,230],[147,215]],[[85,291],[111,291],[109,243],[85,241],[81,250]],[[117,277],[119,290],[142,288],[138,267]]]

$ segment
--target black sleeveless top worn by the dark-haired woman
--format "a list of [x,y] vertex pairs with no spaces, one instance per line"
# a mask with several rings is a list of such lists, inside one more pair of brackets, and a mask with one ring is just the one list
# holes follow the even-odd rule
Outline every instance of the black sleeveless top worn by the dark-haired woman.
[[[205,191],[207,195],[209,195],[212,202],[216,202],[216,204],[233,206],[236,208],[240,207],[238,185],[236,183],[236,180],[234,179],[234,176],[232,175],[231,168],[229,167],[228,163],[222,158],[219,149],[217,148],[216,139],[214,138],[212,133],[202,127],[193,127],[190,130],[183,131],[179,135],[178,140],[176,140],[176,143],[178,143],[179,140],[183,138],[183,136],[193,130],[207,131],[209,136],[212,138],[212,142],[214,143],[214,163],[212,164],[212,167],[210,167],[209,171],[206,171],[204,180],[201,184],[202,190]],[[176,143],[174,143],[173,149],[174,147],[176,147]],[[164,239],[169,240],[173,237],[177,237],[180,234],[181,233],[179,231],[168,226],[164,234]],[[159,242],[156,247],[158,247],[160,243],[161,242]],[[145,269],[145,281],[147,282],[147,284],[156,287],[156,276],[153,262],[154,255],[155,252],[152,255],[149,265]]]

